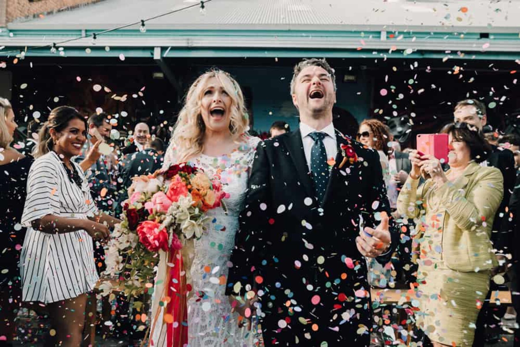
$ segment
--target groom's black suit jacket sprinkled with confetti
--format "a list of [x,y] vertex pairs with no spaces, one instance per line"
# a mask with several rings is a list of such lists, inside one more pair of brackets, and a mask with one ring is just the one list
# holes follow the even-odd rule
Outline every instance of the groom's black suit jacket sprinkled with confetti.
[[[371,326],[367,265],[356,248],[356,237],[360,215],[366,226],[375,227],[379,222],[374,213],[385,211],[390,216],[390,209],[378,153],[339,132],[336,139],[338,153],[321,203],[315,198],[300,130],[257,147],[226,293],[256,286],[264,290],[266,344],[276,339],[280,345],[293,345],[295,336],[306,345],[321,341],[328,341],[329,346],[369,343],[368,334],[356,333],[359,324]],[[358,162],[339,168],[343,159],[340,148],[348,144],[357,153]],[[391,234],[392,251],[378,258],[381,263],[389,261],[399,242],[393,222]],[[311,303],[313,295],[319,295],[320,305]],[[291,329],[278,333],[279,320],[289,314],[287,300],[294,300],[296,305],[290,306],[300,311],[292,311]],[[330,323],[334,307],[341,312],[353,309],[360,316],[331,332],[327,326],[335,325]],[[321,330],[310,330],[310,324],[298,323],[298,319],[310,319],[320,324]],[[307,332],[311,340],[305,340]]]

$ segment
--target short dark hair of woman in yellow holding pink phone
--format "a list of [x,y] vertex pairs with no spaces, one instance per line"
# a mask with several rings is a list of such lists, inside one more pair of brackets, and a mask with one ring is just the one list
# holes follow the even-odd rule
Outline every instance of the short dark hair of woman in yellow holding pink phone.
[[471,159],[477,163],[483,162],[493,151],[484,138],[482,131],[474,125],[464,122],[446,125],[441,133],[451,135],[454,141],[464,142],[470,148]]

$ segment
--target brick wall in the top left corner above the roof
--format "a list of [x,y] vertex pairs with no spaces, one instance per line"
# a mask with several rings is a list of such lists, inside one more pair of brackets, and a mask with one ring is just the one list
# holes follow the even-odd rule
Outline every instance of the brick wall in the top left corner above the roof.
[[[0,11],[2,11],[1,3],[6,2],[7,10],[5,12],[5,21],[9,23],[18,18],[34,17],[40,14],[45,15],[48,12],[98,1],[100,0],[34,0],[34,2],[29,2],[29,0],[0,0]],[[0,13],[0,21],[1,20],[2,14]]]

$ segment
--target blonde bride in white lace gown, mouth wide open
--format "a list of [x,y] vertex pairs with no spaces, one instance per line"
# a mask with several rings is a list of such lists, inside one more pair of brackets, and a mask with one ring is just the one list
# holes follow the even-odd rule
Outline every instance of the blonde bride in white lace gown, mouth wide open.
[[[185,268],[192,286],[188,294],[188,343],[193,347],[252,346],[253,335],[238,327],[237,315],[225,295],[228,263],[235,245],[238,214],[243,207],[257,137],[249,136],[244,97],[237,81],[222,70],[211,70],[193,82],[179,113],[164,167],[189,162],[222,182],[227,193],[227,213],[210,210],[211,222],[203,236],[194,241],[191,266]],[[189,264],[190,262],[188,262]],[[162,264],[164,267],[164,264]],[[161,264],[159,265],[161,269]],[[163,292],[161,271],[154,293]],[[159,311],[152,327],[153,346],[166,345],[166,326],[154,298],[153,311]],[[175,322],[174,324],[178,324]],[[174,325],[175,327],[175,325]],[[174,341],[174,345],[177,345]]]

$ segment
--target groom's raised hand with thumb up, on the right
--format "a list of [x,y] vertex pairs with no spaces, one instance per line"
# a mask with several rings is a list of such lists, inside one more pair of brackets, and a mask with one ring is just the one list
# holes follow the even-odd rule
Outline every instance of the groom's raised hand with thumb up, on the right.
[[359,253],[369,258],[376,258],[388,251],[391,236],[388,230],[388,215],[381,212],[381,223],[375,229],[366,227],[356,238]]

